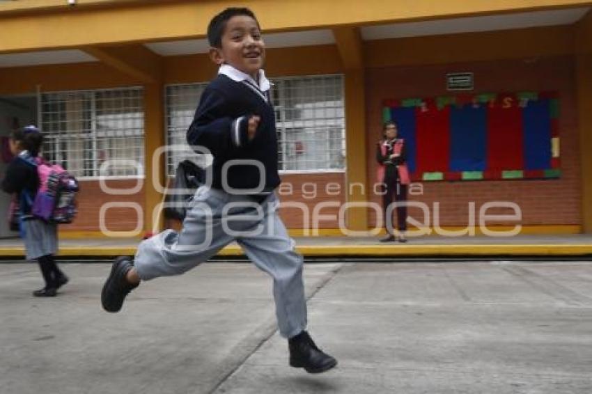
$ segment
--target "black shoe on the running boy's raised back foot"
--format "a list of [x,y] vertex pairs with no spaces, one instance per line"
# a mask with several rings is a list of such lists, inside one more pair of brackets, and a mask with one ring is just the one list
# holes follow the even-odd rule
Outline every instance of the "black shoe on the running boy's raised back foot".
[[132,267],[134,267],[134,263],[128,257],[120,256],[115,259],[113,267],[111,267],[111,274],[105,281],[101,292],[101,303],[107,312],[119,312],[127,294],[138,287],[137,284],[132,285],[127,282],[125,278],[127,271],[130,271]]

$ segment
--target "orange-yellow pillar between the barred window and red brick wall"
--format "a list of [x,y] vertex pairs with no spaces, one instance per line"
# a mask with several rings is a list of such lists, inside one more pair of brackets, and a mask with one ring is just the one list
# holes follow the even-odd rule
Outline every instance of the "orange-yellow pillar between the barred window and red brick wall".
[[[366,81],[364,69],[345,71],[345,197],[348,203],[366,203]],[[357,187],[355,184],[361,184]],[[368,228],[364,206],[346,211],[350,230]]]

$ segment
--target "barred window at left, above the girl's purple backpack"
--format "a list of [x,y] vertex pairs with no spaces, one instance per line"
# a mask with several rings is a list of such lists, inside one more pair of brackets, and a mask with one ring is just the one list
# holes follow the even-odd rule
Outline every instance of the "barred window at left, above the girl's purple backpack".
[[43,153],[78,178],[143,176],[141,88],[41,95]]

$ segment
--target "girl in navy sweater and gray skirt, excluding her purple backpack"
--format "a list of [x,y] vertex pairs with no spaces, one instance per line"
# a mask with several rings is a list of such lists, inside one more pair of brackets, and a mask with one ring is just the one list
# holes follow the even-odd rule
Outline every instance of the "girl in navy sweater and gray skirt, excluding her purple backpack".
[[54,260],[57,249],[57,226],[31,214],[31,205],[40,186],[36,163],[43,136],[35,126],[27,126],[10,134],[10,151],[15,158],[6,168],[2,189],[16,194],[20,209],[20,230],[24,237],[27,260],[37,260],[45,287],[33,292],[35,297],[54,297],[68,277]]

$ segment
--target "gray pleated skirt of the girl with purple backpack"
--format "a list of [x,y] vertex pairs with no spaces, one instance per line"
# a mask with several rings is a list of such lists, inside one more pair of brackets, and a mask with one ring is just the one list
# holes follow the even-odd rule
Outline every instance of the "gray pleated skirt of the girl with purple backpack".
[[27,260],[55,254],[58,249],[58,226],[40,219],[22,221]]

